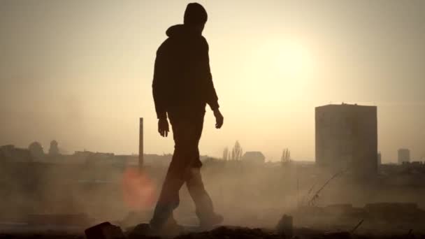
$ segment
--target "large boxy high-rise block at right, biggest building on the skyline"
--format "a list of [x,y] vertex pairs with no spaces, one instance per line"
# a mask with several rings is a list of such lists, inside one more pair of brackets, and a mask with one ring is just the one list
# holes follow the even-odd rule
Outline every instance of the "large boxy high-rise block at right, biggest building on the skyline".
[[356,175],[377,173],[377,108],[349,104],[315,109],[316,164]]

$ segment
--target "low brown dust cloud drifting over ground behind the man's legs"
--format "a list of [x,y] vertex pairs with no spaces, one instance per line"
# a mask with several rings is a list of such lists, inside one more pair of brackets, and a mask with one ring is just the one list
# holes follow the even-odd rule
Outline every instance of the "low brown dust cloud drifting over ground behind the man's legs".
[[[3,162],[1,219],[26,222],[34,214],[84,213],[96,223],[122,222],[131,212],[142,214],[143,217],[136,217],[127,225],[132,226],[152,217],[166,175],[165,166],[146,166],[141,173],[137,166],[78,161],[72,157],[63,160],[59,164]],[[335,172],[314,164],[254,165],[222,160],[204,162],[201,171],[215,210],[224,216],[225,225],[274,228],[286,214],[294,217],[294,226],[298,228],[351,230],[363,219],[358,211],[367,203],[425,206],[425,190],[406,186],[412,185],[406,181],[407,176],[362,179],[348,171],[329,180]],[[314,205],[309,205],[322,185],[326,186],[317,194]],[[346,209],[357,214],[347,216]],[[194,203],[184,186],[174,217],[180,224],[194,225],[198,223],[194,212]],[[365,219],[359,231],[373,226],[376,225],[370,219]]]

